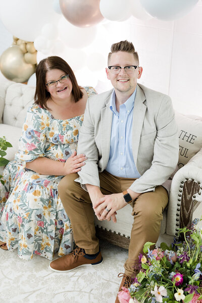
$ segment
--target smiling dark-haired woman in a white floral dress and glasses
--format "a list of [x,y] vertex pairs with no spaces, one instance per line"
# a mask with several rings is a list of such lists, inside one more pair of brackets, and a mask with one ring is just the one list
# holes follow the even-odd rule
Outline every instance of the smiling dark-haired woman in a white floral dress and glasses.
[[63,256],[73,249],[57,186],[64,175],[85,165],[85,155],[76,155],[75,150],[87,98],[95,93],[92,87],[78,86],[60,57],[43,59],[36,68],[35,103],[27,112],[19,150],[4,170],[0,190],[0,247],[18,248],[22,259],[37,254],[51,260],[55,251]]

